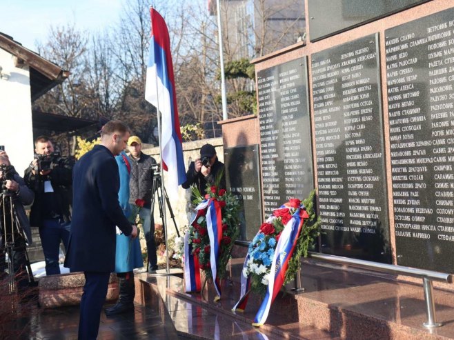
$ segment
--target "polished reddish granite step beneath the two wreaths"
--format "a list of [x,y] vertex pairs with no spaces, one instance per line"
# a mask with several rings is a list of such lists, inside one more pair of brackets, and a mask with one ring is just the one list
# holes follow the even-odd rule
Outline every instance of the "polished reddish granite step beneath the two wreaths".
[[[187,294],[182,290],[183,284],[181,277],[152,277],[147,274],[137,275],[136,281],[136,287],[139,287],[136,302],[143,303],[145,306],[155,306],[159,303],[159,299],[163,301],[179,337],[219,340],[340,339],[330,332],[318,330],[313,326],[303,326],[297,321],[288,321],[293,318],[292,313],[288,313],[288,309],[279,312],[272,310],[273,314],[268,318],[272,321],[260,328],[255,328],[251,324],[254,317],[253,308],[240,314],[231,312],[235,304],[233,293],[236,289],[232,289],[230,283],[226,282],[224,285],[223,298],[217,303],[213,302],[212,287],[207,286],[202,294]],[[255,301],[250,301],[250,306],[255,305],[257,305]]]

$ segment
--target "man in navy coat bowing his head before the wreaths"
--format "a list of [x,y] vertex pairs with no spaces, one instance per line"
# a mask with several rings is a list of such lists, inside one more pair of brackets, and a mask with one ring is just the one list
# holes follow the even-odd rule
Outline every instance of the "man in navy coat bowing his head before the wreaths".
[[65,266],[83,271],[79,339],[96,339],[110,272],[115,271],[116,228],[137,237],[137,228],[124,216],[118,201],[119,172],[115,155],[126,148],[129,131],[120,121],[101,130],[101,145],[74,167],[70,241]]

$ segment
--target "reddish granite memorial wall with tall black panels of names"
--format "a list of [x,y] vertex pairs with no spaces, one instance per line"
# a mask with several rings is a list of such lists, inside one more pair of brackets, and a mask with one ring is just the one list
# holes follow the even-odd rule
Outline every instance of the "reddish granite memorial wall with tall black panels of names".
[[264,217],[317,187],[321,252],[453,273],[454,0],[367,20],[254,61]]

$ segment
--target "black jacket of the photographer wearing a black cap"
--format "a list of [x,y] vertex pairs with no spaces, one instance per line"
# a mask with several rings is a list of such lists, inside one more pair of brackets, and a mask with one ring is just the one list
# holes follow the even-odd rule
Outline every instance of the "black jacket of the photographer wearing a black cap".
[[[186,172],[186,182],[181,184],[185,189],[190,188],[191,185],[197,186],[199,192],[202,196],[206,194],[206,186],[209,183],[210,186],[214,186],[216,182],[216,177],[219,172],[222,172],[221,181],[219,182],[219,189],[226,189],[226,169],[224,163],[216,159],[213,166],[211,166],[210,174],[204,176],[201,172],[195,171],[195,162],[191,162],[188,172]],[[195,196],[191,193],[190,200],[191,202],[195,199]]]

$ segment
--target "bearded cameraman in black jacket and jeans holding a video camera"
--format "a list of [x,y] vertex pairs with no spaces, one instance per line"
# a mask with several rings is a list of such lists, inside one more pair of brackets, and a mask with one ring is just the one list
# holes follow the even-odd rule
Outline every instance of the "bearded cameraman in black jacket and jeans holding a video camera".
[[68,250],[72,210],[72,159],[57,157],[52,141],[40,136],[34,141],[35,159],[24,179],[34,192],[30,223],[39,227],[46,259],[46,274],[60,274],[59,250]]

